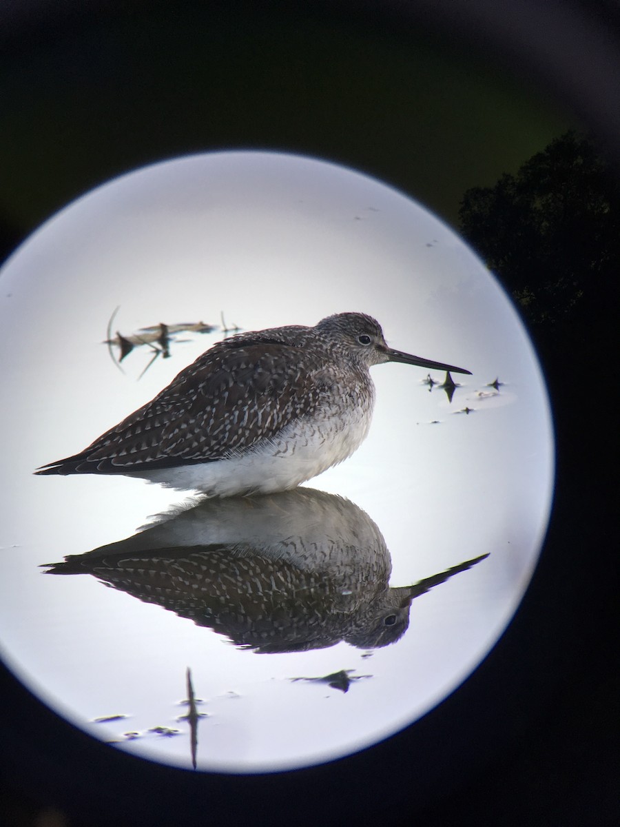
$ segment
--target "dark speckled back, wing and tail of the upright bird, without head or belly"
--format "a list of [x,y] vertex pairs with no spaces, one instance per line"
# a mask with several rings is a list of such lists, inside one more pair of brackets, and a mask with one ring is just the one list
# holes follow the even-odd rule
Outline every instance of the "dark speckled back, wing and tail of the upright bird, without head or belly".
[[372,390],[368,371],[343,366],[337,344],[316,328],[242,333],[203,353],[83,452],[38,473],[126,474],[227,460],[313,418],[344,426],[334,414],[351,406],[361,409],[363,438]]

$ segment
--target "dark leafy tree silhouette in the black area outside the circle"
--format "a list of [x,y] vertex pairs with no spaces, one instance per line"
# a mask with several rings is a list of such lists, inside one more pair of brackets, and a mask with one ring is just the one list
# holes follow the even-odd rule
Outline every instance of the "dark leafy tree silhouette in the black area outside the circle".
[[620,190],[615,170],[574,131],[516,175],[468,189],[460,231],[512,294],[540,342],[611,336],[618,302]]

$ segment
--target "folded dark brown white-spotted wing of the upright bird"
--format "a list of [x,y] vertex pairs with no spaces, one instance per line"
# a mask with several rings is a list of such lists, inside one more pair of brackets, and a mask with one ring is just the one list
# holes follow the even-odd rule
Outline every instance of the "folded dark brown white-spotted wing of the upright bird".
[[83,452],[40,473],[122,473],[233,457],[312,414],[326,374],[320,356],[282,342],[221,342]]

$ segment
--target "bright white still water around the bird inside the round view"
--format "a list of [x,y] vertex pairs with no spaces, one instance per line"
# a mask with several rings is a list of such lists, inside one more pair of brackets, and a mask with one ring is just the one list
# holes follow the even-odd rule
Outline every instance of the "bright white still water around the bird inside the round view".
[[[222,336],[179,334],[169,358],[136,381],[154,351],[132,351],[125,375],[112,365],[102,342],[118,305],[115,327],[126,334],[160,322],[218,325],[222,311],[228,323],[259,329],[359,310],[379,319],[393,347],[470,369],[455,377],[449,401],[442,375],[425,385],[426,371],[373,368],[369,438],[308,485],[368,514],[391,557],[392,589],[489,557],[414,600],[408,628],[388,646],[360,649],[336,636],[326,648],[263,655],[92,576],[45,575],[42,564],[130,538],[150,514],[179,504],[178,494],[141,480],[32,476],[150,399]],[[9,437],[0,646],[21,680],[83,729],[191,766],[181,705],[189,667],[205,715],[198,768],[327,760],[431,709],[517,608],[551,501],[544,383],[503,291],[447,227],[393,189],[268,153],[156,165],[96,190],[31,237],[2,270],[0,320],[12,400],[0,412]],[[503,384],[493,387],[496,377]],[[337,680],[292,680],[342,672],[346,692]],[[116,715],[127,717],[109,719]]]

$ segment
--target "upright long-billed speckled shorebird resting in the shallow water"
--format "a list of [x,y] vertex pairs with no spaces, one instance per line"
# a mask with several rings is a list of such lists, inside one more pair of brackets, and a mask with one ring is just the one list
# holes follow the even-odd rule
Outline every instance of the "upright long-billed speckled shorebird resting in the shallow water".
[[470,373],[388,347],[364,313],[218,342],[83,451],[37,474],[122,474],[227,497],[294,488],[351,457],[370,428],[370,367]]

